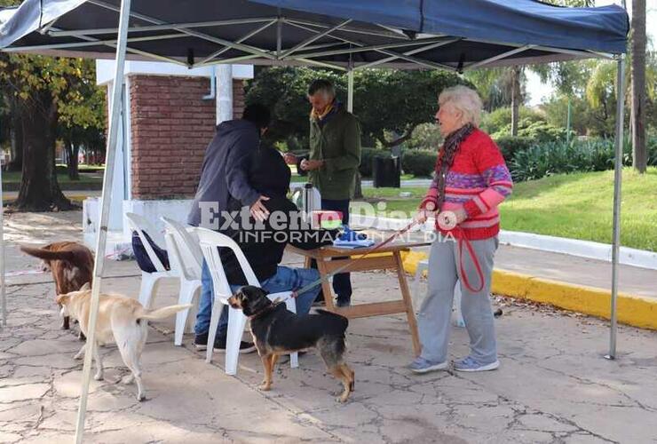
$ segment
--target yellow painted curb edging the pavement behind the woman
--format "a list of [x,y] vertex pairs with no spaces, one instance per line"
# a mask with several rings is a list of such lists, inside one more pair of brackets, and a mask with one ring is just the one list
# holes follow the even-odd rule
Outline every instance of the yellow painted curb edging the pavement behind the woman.
[[[427,255],[422,252],[408,253],[403,257],[404,270],[415,274],[417,263],[425,258]],[[495,269],[491,291],[604,319],[611,316],[611,290]],[[657,329],[657,298],[619,293],[617,313],[619,322],[642,329]]]

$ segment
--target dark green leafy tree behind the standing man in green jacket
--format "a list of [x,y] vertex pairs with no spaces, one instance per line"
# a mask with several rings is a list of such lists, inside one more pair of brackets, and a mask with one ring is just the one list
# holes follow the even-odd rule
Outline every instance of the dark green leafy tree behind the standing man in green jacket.
[[[316,78],[329,79],[336,86],[337,98],[345,102],[346,75],[327,69],[308,67],[268,67],[258,69],[247,84],[247,103],[261,102],[273,109],[277,118],[289,122],[293,137],[289,147],[305,146],[310,106],[308,85]],[[378,141],[393,147],[409,139],[420,123],[433,122],[440,91],[467,83],[458,75],[442,71],[398,71],[365,69],[354,73],[354,114],[360,119],[363,145]],[[392,131],[398,138],[386,137]]]

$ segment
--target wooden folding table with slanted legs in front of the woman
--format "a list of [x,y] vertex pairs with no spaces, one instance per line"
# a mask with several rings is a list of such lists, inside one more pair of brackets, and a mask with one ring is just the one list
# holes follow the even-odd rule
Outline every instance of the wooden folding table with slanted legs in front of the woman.
[[372,248],[344,249],[337,247],[322,247],[317,250],[300,250],[288,245],[288,250],[305,257],[305,267],[310,267],[312,259],[317,261],[317,270],[324,277],[337,268],[344,266],[347,262],[352,265],[345,272],[365,272],[372,270],[392,270],[397,273],[400,281],[401,298],[392,301],[372,302],[368,304],[351,305],[348,307],[337,307],[333,303],[333,291],[329,281],[321,282],[324,293],[326,308],[332,312],[340,313],[347,318],[368,318],[370,316],[381,316],[385,314],[406,313],[408,318],[408,329],[410,329],[413,340],[413,350],[420,353],[420,340],[417,334],[416,314],[413,311],[406,273],[401,262],[401,251],[408,251],[415,247],[430,245],[429,242],[392,242],[376,250],[371,256],[366,256]]

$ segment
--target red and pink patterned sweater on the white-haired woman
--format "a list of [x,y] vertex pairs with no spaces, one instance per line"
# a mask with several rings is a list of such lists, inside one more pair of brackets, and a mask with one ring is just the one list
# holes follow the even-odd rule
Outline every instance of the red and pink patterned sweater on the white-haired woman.
[[[513,182],[511,173],[504,163],[500,149],[484,131],[475,129],[461,143],[454,163],[447,173],[445,202],[440,210],[456,210],[463,207],[468,215],[459,227],[452,232],[456,238],[464,236],[471,240],[487,239],[500,231],[499,205],[509,194]],[[428,202],[437,205],[438,163],[436,178],[420,203],[423,209]],[[441,234],[445,230],[436,229]]]

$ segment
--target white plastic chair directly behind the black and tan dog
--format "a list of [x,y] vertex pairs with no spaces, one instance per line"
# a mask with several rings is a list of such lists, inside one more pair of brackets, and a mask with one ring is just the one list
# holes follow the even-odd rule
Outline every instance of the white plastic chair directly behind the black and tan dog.
[[[208,333],[208,350],[206,353],[205,361],[212,361],[213,347],[215,337],[217,336],[217,327],[219,323],[219,316],[224,305],[228,304],[228,297],[233,296],[233,291],[226,279],[226,272],[219,257],[219,247],[225,247],[233,250],[235,258],[241,266],[241,271],[246,277],[249,285],[260,287],[260,282],[257,280],[256,274],[249,265],[247,258],[241,251],[239,245],[225,234],[220,234],[206,228],[196,228],[194,232],[198,235],[203,257],[208,263],[210,268],[210,275],[212,276],[212,285],[214,288],[214,301],[212,303],[212,317],[210,318],[210,331]],[[267,295],[271,300],[277,297],[289,297],[291,291],[283,291],[280,293],[271,293]],[[293,298],[287,298],[285,305],[292,313],[297,313],[297,303]],[[241,310],[237,310],[230,305],[228,306],[228,331],[226,337],[226,374],[237,374],[237,360],[240,354],[241,334],[244,332],[247,318]],[[290,353],[289,356],[290,366],[295,369],[298,367],[298,354]]]

